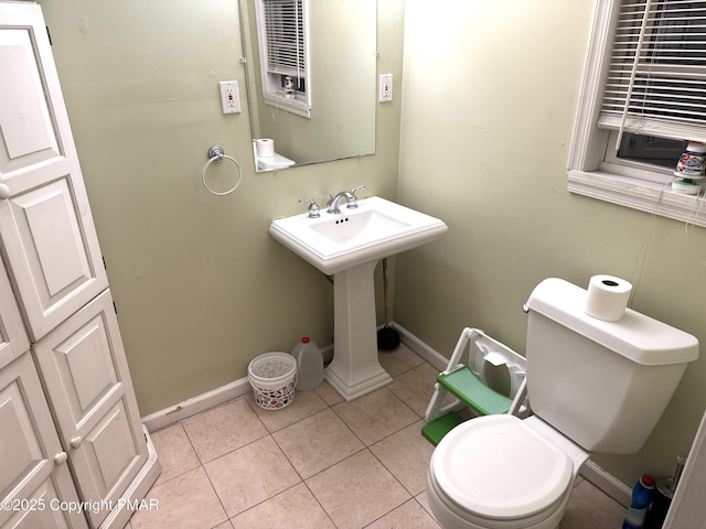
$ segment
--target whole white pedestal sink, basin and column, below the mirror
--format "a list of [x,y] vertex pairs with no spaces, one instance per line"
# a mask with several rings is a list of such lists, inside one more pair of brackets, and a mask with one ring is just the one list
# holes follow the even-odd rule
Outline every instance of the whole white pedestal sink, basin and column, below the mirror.
[[377,361],[375,287],[377,261],[438,239],[442,220],[385,198],[357,201],[339,214],[303,213],[276,218],[270,235],[328,276],[333,276],[334,354],[325,379],[345,400],[392,381]]

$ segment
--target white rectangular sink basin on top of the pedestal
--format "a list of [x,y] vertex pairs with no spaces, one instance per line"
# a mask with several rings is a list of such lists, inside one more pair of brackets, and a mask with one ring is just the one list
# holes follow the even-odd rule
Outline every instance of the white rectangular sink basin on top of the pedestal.
[[364,262],[417,248],[448,231],[442,220],[378,196],[341,205],[340,214],[321,210],[277,218],[270,235],[329,276]]

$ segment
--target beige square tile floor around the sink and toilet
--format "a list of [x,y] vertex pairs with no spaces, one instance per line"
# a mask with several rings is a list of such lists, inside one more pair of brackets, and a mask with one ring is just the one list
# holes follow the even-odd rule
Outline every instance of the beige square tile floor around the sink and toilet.
[[[345,402],[328,385],[265,411],[242,397],[152,433],[162,473],[126,529],[438,528],[420,434],[437,369],[402,345],[393,384]],[[580,479],[561,529],[619,528],[624,508]]]

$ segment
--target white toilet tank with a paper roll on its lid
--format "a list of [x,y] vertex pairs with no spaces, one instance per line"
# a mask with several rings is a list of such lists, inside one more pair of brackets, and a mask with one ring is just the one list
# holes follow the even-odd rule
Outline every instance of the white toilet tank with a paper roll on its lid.
[[586,290],[546,279],[527,301],[527,395],[535,414],[590,452],[638,452],[698,341],[631,309],[618,322],[584,312]]

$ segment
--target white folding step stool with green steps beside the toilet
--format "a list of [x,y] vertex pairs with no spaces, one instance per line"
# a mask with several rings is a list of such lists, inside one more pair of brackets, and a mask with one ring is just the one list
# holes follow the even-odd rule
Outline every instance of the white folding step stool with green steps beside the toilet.
[[[460,364],[467,346],[468,366]],[[481,375],[485,363],[507,367],[511,396],[502,395],[483,382]],[[448,393],[456,399],[443,406]],[[427,424],[421,428],[421,434],[436,446],[447,433],[463,422],[458,413],[463,407],[477,415],[528,413],[524,357],[482,331],[469,327],[461,332],[449,365],[437,377],[435,392],[425,415]]]

